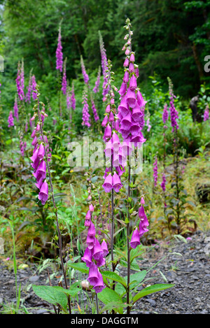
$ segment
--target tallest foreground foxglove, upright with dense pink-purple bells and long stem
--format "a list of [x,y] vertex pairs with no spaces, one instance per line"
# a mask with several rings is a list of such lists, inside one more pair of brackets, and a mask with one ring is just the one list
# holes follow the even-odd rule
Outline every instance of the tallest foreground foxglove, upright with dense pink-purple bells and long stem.
[[[118,106],[118,119],[120,122],[119,132],[123,138],[123,146],[125,146],[125,155],[128,157],[134,145],[134,150],[140,148],[142,143],[146,141],[141,130],[144,128],[144,106],[146,101],[141,95],[139,88],[137,87],[137,78],[139,77],[138,66],[134,64],[135,54],[132,51],[132,35],[130,19],[127,18],[125,29],[127,34],[125,35],[125,45],[123,51],[125,51],[125,61],[123,66],[125,67],[125,73],[123,77],[123,83],[118,91],[120,94],[120,105]],[[130,213],[132,213],[132,198],[131,198],[131,166],[128,163],[128,186],[127,186],[127,304],[130,304]],[[138,238],[137,229],[134,230],[136,245]],[[134,238],[133,237],[133,238]],[[134,239],[132,239],[132,242]],[[127,313],[130,312],[130,306],[127,306]]]

